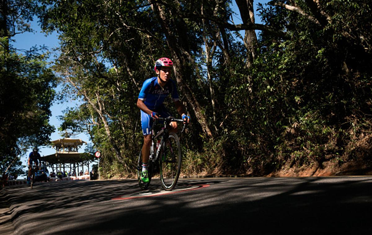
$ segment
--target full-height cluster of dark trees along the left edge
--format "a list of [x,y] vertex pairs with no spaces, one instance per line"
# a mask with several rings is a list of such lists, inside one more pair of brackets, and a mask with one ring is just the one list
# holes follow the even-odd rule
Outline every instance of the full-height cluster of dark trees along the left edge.
[[13,37],[32,32],[36,1],[1,0],[0,6],[0,174],[23,174],[20,156],[26,149],[48,144],[56,78],[46,62],[48,51],[19,51]]

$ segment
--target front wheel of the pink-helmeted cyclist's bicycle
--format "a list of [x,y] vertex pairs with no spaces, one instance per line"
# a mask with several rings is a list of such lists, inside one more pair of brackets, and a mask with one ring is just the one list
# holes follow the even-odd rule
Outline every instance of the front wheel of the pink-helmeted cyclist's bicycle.
[[177,184],[181,171],[181,146],[176,133],[169,133],[168,139],[163,142],[160,154],[160,179],[165,190],[172,190]]

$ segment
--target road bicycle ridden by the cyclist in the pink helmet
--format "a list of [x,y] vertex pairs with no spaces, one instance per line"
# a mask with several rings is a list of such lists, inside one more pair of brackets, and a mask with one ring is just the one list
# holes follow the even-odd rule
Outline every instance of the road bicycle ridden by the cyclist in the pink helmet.
[[[138,156],[137,177],[138,184],[141,189],[147,189],[150,185],[151,178],[159,172],[161,186],[165,190],[172,190],[177,184],[178,177],[181,171],[181,145],[176,133],[169,132],[167,126],[171,122],[183,122],[182,119],[175,118],[157,118],[151,127],[152,140],[150,147],[150,158],[148,161],[148,178],[149,182],[145,183],[141,180],[142,157],[141,151]],[[160,131],[155,131],[154,127],[157,123],[163,123],[163,128]],[[185,131],[186,124],[183,124],[182,131]]]

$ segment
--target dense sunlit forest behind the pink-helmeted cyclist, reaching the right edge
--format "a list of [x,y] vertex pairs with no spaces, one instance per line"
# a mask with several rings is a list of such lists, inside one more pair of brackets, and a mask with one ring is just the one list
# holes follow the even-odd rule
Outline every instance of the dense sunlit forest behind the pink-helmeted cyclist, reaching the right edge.
[[42,28],[60,35],[54,73],[65,95],[84,100],[60,130],[90,135],[105,177],[135,168],[135,104],[160,57],[173,60],[193,120],[183,174],[371,165],[370,2],[234,4],[237,12],[231,0],[37,1]]

